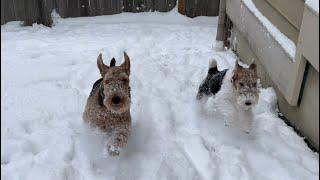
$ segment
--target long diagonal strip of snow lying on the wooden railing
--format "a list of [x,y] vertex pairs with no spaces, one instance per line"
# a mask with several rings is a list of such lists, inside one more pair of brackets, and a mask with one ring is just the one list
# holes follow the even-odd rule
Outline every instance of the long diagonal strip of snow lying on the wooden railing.
[[286,35],[272,24],[254,5],[252,0],[242,0],[248,9],[259,19],[262,25],[268,30],[268,32],[275,38],[280,46],[287,52],[292,61],[294,61],[296,53],[296,45]]

